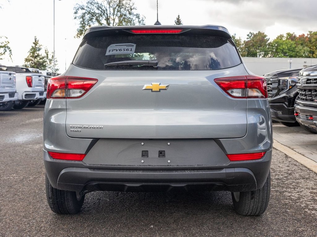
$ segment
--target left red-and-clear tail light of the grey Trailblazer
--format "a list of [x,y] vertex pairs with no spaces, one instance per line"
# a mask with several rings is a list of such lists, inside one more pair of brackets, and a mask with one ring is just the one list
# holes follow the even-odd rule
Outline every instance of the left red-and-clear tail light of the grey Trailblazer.
[[48,99],[76,99],[86,94],[98,82],[95,78],[56,76],[47,84]]

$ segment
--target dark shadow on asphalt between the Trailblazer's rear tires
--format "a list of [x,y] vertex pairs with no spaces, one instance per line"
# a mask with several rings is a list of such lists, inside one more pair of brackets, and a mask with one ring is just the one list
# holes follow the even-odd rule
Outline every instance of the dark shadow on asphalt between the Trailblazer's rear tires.
[[[190,213],[191,210],[193,212],[210,212],[211,210],[224,209],[233,211],[231,194],[226,191],[179,193],[93,192],[89,194],[81,213],[89,213],[89,210],[94,209],[94,207],[97,207],[97,212],[101,215],[105,212],[118,215],[132,212],[133,215],[143,215],[143,212],[151,211],[155,211],[157,215],[163,215],[166,214],[166,210],[170,214],[181,211]],[[118,202],[120,205],[118,205]]]

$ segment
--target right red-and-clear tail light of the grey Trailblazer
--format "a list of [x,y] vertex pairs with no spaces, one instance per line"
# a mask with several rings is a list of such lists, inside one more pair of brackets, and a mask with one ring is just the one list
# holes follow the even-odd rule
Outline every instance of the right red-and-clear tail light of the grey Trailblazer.
[[265,78],[260,76],[231,76],[216,78],[214,81],[234,98],[268,98]]

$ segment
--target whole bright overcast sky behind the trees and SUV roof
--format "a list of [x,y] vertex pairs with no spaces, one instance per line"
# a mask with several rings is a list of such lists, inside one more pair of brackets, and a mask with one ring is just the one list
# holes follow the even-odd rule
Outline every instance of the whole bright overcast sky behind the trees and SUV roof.
[[[80,44],[75,39],[75,3],[85,0],[55,0],[55,56],[60,73],[71,63]],[[156,21],[156,0],[134,0],[145,23]],[[6,36],[12,61],[22,65],[34,41],[53,51],[53,0],[0,0],[0,36]],[[317,31],[317,0],[159,0],[159,21],[173,25],[179,14],[184,25],[222,25],[230,34],[243,39],[251,32],[263,31],[273,40],[279,34],[297,35]]]

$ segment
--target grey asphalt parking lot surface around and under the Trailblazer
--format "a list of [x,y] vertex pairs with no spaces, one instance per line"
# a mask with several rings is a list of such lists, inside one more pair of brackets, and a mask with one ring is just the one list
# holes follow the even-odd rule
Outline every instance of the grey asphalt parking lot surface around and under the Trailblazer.
[[0,112],[0,236],[317,236],[317,174],[276,149],[262,216],[237,215],[230,192],[92,192],[80,214],[57,215],[45,195],[43,110]]

